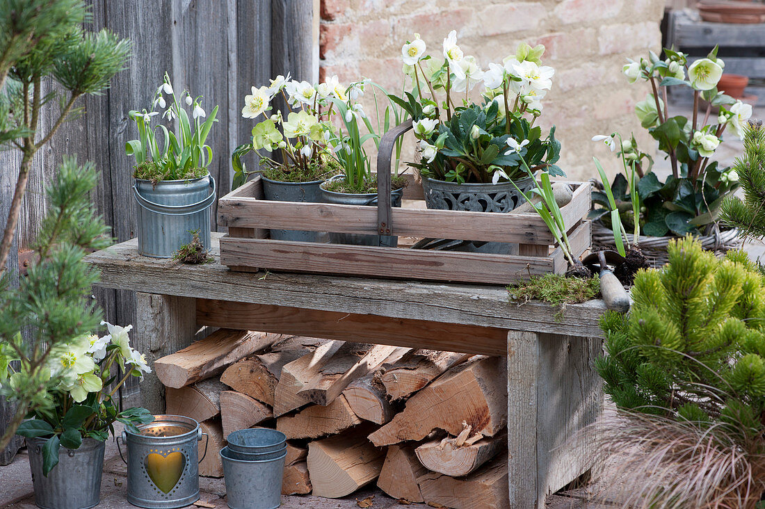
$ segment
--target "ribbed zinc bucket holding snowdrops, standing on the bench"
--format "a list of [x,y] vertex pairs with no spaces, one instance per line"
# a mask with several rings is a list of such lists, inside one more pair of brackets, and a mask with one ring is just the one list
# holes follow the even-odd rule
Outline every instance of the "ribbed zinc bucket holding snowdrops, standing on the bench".
[[215,179],[211,175],[185,181],[151,181],[136,178],[138,201],[138,253],[170,258],[190,243],[199,230],[200,242],[210,250],[210,205],[215,202]]

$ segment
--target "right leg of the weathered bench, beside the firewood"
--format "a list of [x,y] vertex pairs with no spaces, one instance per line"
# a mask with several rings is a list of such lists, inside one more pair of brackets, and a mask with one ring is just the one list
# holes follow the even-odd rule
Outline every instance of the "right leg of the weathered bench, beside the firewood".
[[594,446],[578,436],[603,403],[593,369],[599,338],[509,331],[507,445],[510,507],[545,507],[555,493],[591,468]]

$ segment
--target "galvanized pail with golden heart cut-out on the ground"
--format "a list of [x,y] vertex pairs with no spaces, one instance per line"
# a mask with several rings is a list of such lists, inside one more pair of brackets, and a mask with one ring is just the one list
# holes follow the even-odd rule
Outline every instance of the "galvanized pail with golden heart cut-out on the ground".
[[[184,416],[155,416],[152,423],[138,426],[140,435],[125,429],[127,445],[128,501],[138,507],[171,509],[184,507],[199,498],[197,442],[206,436],[199,423]],[[117,440],[119,446],[119,439]],[[119,450],[122,456],[122,449]]]

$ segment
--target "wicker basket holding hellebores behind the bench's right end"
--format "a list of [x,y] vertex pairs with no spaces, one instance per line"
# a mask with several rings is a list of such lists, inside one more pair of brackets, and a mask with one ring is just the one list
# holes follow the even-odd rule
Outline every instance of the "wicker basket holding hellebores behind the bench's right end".
[[[669,258],[667,256],[667,244],[670,240],[677,237],[647,237],[640,235],[640,250],[648,259],[648,263],[655,269],[664,266]],[[717,256],[722,256],[729,250],[737,249],[741,245],[741,239],[738,237],[738,230],[715,230],[711,235],[702,235],[697,237],[702,243],[702,247],[708,251],[714,251]],[[627,233],[627,240],[632,243],[633,236]],[[592,249],[606,248],[615,250],[614,232],[606,228],[600,221],[592,223]]]

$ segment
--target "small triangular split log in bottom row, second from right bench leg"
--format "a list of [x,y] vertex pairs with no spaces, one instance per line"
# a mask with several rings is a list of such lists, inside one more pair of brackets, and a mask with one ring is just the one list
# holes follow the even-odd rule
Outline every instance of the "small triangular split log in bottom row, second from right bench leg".
[[414,445],[391,445],[382,464],[377,486],[392,498],[424,502],[417,478],[428,473],[415,455]]

